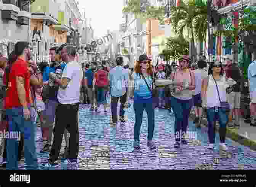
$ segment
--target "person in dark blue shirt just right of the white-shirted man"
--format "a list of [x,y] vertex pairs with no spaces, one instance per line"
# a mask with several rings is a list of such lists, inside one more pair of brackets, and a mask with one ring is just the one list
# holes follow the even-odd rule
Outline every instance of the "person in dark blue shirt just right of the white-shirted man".
[[91,104],[91,108],[90,111],[94,111],[94,100],[95,100],[95,94],[94,94],[94,90],[93,90],[93,79],[94,79],[94,72],[97,69],[97,62],[93,61],[91,63],[91,68],[88,69],[85,72],[85,88],[88,91],[88,96],[90,98],[90,104]]

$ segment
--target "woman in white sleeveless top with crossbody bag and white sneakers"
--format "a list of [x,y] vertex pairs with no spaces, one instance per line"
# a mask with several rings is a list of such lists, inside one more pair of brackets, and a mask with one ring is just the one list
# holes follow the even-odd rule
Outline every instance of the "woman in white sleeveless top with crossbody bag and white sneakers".
[[208,70],[208,78],[203,79],[202,82],[202,106],[203,108],[207,108],[208,137],[210,140],[208,149],[214,149],[215,124],[219,118],[219,148],[222,150],[227,150],[227,146],[225,145],[225,138],[228,115],[226,112],[220,110],[220,101],[227,101],[227,87],[229,86],[226,84],[226,77],[223,74],[223,67],[221,62],[211,63]]

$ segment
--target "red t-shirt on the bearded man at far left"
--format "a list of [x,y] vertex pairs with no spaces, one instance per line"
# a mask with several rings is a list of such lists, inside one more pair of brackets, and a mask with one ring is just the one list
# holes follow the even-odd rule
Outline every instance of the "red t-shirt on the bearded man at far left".
[[30,72],[27,66],[27,62],[21,58],[18,58],[18,60],[16,60],[13,63],[10,74],[9,74],[9,84],[8,84],[8,91],[6,93],[6,103],[5,103],[6,109],[22,106],[21,102],[19,101],[18,90],[16,85],[17,76],[21,76],[25,79],[24,86],[26,91],[26,99],[27,99],[27,103],[31,104],[29,99]]

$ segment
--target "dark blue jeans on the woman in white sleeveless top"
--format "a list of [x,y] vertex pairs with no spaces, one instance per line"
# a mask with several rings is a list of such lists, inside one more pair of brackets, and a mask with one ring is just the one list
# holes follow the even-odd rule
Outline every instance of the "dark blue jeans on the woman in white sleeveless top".
[[228,115],[222,112],[218,107],[218,112],[214,108],[207,108],[207,121],[208,121],[208,136],[210,143],[215,143],[215,123],[219,118],[219,139],[221,143],[225,142],[226,126],[228,123]]

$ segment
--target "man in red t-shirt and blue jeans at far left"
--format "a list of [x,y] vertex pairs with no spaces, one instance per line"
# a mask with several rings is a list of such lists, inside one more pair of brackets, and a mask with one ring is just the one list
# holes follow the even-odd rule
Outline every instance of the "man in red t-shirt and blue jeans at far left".
[[7,139],[7,170],[18,170],[18,141],[24,134],[25,160],[28,170],[37,169],[34,124],[30,110],[33,107],[30,92],[30,71],[27,59],[28,42],[17,42],[14,54],[10,59],[10,73],[7,78],[6,115],[9,122],[9,138]]

